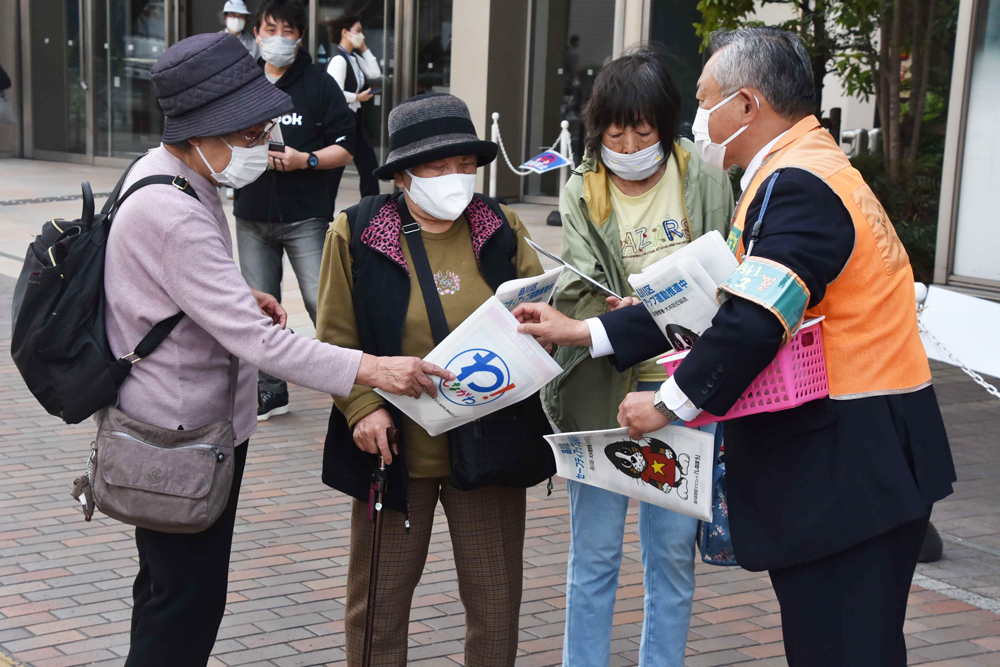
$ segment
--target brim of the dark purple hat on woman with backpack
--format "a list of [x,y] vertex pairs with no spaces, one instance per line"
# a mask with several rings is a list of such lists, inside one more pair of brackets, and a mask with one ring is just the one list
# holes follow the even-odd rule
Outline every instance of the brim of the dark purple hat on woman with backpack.
[[220,137],[284,116],[294,109],[292,98],[260,76],[203,107],[163,121],[163,143],[191,137]]

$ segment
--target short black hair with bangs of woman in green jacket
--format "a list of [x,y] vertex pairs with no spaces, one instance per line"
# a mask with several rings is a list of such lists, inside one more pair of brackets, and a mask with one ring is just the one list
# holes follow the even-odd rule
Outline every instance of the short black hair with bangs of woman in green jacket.
[[671,154],[681,119],[681,93],[671,65],[662,48],[643,45],[604,66],[583,109],[592,156],[601,159],[601,138],[610,125],[635,127],[643,121],[660,133],[664,155]]

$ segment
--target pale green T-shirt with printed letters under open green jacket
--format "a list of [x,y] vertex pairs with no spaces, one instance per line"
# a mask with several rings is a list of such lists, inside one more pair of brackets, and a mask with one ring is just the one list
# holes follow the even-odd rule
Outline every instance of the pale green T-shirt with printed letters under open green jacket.
[[[618,218],[622,263],[627,273],[640,273],[691,242],[691,225],[684,209],[684,180],[673,154],[657,184],[641,195],[623,194],[610,178],[608,188]],[[655,357],[639,364],[638,371],[639,382],[663,382],[668,377]]]

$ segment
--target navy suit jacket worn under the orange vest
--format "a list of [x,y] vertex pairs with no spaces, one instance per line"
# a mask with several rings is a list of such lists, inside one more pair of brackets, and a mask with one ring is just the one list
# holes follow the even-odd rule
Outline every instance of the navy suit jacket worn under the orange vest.
[[[750,203],[748,221],[757,219],[764,190]],[[812,307],[853,248],[854,224],[840,198],[809,172],[782,171],[753,255],[794,271]],[[669,348],[644,306],[600,319],[619,370]],[[678,367],[678,386],[697,407],[725,414],[774,359],[783,331],[764,308],[726,301]],[[925,517],[955,480],[933,387],[824,398],[729,420],[725,429],[730,530],[736,559],[748,570],[822,558]]]

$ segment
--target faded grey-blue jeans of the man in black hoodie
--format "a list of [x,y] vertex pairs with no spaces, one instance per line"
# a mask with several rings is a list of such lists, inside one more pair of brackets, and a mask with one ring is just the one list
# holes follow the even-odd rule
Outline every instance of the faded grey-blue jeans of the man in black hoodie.
[[[319,271],[323,263],[323,244],[330,223],[322,218],[299,222],[251,222],[236,219],[236,243],[240,271],[253,289],[281,301],[281,259],[288,259],[302,292],[309,318],[316,324],[316,300],[319,295]],[[284,380],[260,371],[258,389],[274,394],[288,392]]]

